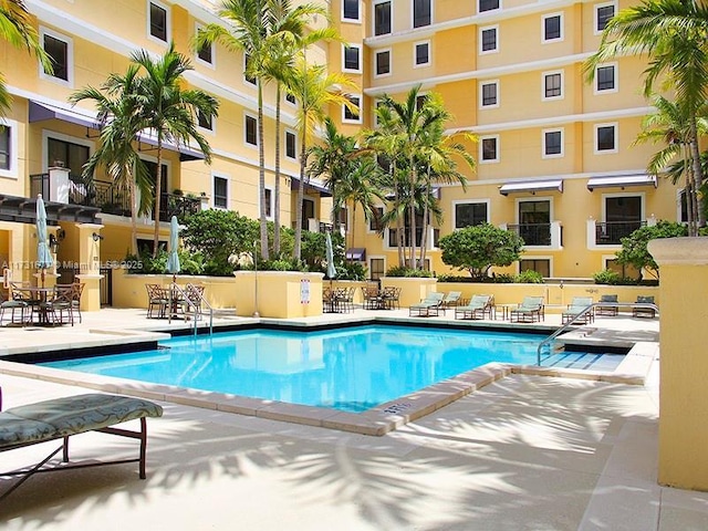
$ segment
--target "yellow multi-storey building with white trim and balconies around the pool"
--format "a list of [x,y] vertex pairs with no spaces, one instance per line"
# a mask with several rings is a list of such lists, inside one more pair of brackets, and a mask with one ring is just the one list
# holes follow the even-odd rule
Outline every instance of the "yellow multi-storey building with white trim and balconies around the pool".
[[[402,97],[420,84],[437,92],[454,115],[449,131],[475,133],[469,149],[476,170],[460,186],[439,187],[445,221],[428,238],[428,268],[448,272],[436,247],[440,236],[480,221],[518,231],[523,259],[511,268],[534,269],[546,278],[587,278],[611,266],[620,238],[658,219],[680,220],[680,189],[646,175],[653,145],[633,145],[650,111],[639,94],[644,64],[621,58],[600,65],[584,81],[582,64],[596,49],[606,21],[626,2],[332,0],[332,25],[346,43],[312,52],[332,71],[361,87],[352,94],[360,113],[332,108],[346,134],[374,126],[376,97]],[[50,232],[58,241],[60,269],[96,274],[119,263],[129,249],[129,202],[105,177],[86,187],[81,167],[98,145],[95,110],[72,106],[69,96],[101,86],[112,72],[125,72],[131,53],[155,56],[170,41],[195,66],[187,85],[216,96],[218,118],[200,129],[214,149],[211,165],[191,147],[168,146],[163,162],[162,239],[170,209],[226,208],[257,218],[257,85],[243,75],[244,58],[215,44],[198,53],[189,41],[200,27],[223,23],[209,0],[28,0],[40,40],[55,61],[45,73],[24,50],[3,46],[0,71],[13,95],[0,138],[0,262],[12,278],[31,275],[33,201],[49,201]],[[319,21],[317,23],[323,23]],[[267,217],[274,201],[275,88],[264,86]],[[295,104],[282,100],[281,221],[294,223],[300,146]],[[139,143],[140,156],[156,164],[155,139]],[[330,222],[331,199],[317,183],[308,185],[304,228]],[[379,205],[379,210],[387,208]],[[375,221],[347,212],[348,230],[369,277],[397,264],[391,235]],[[355,230],[351,223],[356,219]],[[152,240],[154,221],[138,222],[138,240]],[[94,237],[94,233],[96,235]],[[80,237],[80,235],[84,235]],[[80,258],[94,254],[91,264]],[[95,258],[95,257],[94,257]],[[60,271],[61,272],[61,271]],[[103,302],[110,302],[104,294]]]

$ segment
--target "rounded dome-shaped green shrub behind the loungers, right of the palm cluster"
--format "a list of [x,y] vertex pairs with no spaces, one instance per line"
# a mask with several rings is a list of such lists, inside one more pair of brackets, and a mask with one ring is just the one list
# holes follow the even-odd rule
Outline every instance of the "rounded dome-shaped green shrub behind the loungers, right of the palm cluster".
[[442,262],[483,279],[493,267],[507,267],[519,260],[523,240],[516,232],[490,223],[475,225],[440,238]]

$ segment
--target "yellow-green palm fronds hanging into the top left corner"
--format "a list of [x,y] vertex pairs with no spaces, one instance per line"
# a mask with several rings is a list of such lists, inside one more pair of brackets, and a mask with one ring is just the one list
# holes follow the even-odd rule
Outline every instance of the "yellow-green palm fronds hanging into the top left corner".
[[[52,72],[52,61],[39,41],[37,29],[32,25],[30,13],[22,0],[0,0],[0,39],[14,48],[27,48],[39,58],[44,72]],[[12,96],[4,84],[4,77],[0,74],[0,116],[10,111],[11,104]]]

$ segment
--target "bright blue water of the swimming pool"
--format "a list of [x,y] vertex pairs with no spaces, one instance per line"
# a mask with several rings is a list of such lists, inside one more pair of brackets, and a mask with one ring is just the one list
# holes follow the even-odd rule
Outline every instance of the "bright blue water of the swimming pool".
[[382,325],[259,330],[174,337],[155,351],[42,365],[362,412],[489,362],[534,364],[542,337]]

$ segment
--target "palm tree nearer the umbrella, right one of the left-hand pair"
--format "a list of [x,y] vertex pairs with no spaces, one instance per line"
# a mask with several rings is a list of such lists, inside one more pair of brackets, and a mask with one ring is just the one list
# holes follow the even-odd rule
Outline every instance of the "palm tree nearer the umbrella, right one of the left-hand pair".
[[197,129],[198,114],[212,119],[218,114],[217,100],[200,90],[183,90],[185,72],[192,70],[189,60],[175,51],[175,44],[158,60],[153,60],[146,50],[131,55],[142,66],[145,75],[139,79],[139,114],[144,125],[157,136],[157,169],[155,175],[155,235],[153,256],[157,256],[160,215],[160,167],[165,143],[188,145],[194,139],[201,149],[207,164],[211,163],[211,148]]

